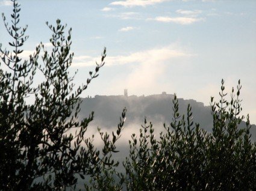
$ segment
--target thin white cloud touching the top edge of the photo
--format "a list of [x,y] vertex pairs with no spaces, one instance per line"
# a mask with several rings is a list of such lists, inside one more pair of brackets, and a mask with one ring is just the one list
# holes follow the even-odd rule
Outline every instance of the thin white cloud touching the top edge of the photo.
[[123,7],[134,7],[134,6],[142,6],[145,7],[147,5],[154,5],[157,3],[161,3],[169,0],[126,0],[126,1],[114,1],[111,2],[110,5],[120,5]]

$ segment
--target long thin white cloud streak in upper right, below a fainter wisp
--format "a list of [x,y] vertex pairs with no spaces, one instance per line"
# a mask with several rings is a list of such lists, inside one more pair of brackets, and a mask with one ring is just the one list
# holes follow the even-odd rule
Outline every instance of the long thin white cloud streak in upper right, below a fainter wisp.
[[194,18],[194,17],[155,17],[155,19],[147,19],[147,20],[156,20],[158,22],[164,23],[177,23],[181,25],[190,25],[195,22],[199,22],[204,20],[203,18]]

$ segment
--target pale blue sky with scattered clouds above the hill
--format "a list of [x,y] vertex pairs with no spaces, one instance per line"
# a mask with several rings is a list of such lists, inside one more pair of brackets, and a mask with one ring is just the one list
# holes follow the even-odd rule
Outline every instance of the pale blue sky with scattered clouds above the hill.
[[[72,28],[70,72],[78,70],[76,85],[86,82],[107,47],[105,65],[83,97],[120,95],[127,88],[128,95],[166,91],[210,105],[211,96],[219,101],[222,79],[228,100],[240,79],[243,114],[256,124],[256,1],[19,2],[20,25],[28,25],[29,35],[24,58],[41,41],[51,49],[46,21],[54,25],[60,19]],[[11,10],[10,1],[0,0],[0,13],[7,19]],[[1,21],[2,47],[8,48],[8,40]]]

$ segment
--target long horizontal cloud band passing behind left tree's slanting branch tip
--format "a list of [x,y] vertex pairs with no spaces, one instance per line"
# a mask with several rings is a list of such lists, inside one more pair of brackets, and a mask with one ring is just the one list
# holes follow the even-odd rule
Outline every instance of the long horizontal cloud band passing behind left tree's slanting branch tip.
[[[130,53],[129,55],[107,56],[105,58],[106,66],[133,64],[133,63],[157,63],[163,62],[170,58],[193,56],[181,50],[173,49],[171,46],[160,47],[155,49],[143,50]],[[92,56],[75,56],[73,58],[72,67],[87,67],[95,65],[95,61],[100,58]]]

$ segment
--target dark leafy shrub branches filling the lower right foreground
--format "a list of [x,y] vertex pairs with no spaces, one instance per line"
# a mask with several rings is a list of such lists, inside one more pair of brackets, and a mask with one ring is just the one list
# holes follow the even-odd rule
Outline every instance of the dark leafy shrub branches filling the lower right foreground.
[[256,188],[256,145],[251,142],[249,116],[240,127],[240,80],[228,102],[222,80],[219,103],[211,98],[213,132],[193,125],[192,108],[178,112],[173,100],[170,127],[155,138],[151,123],[130,141],[130,157],[123,163],[127,190],[254,190]]

